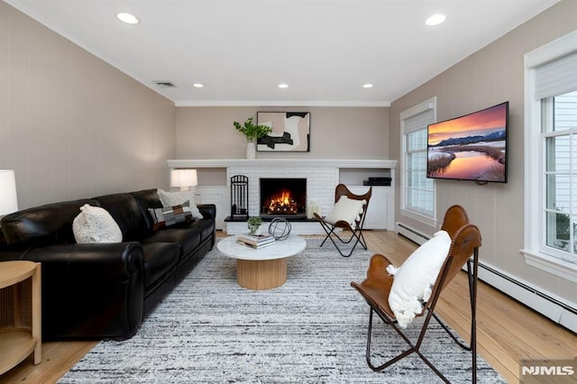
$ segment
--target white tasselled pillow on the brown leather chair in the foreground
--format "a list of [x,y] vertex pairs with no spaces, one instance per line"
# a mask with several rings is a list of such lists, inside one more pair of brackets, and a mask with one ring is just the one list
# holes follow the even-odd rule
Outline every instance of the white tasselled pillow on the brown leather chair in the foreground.
[[431,288],[450,247],[449,233],[439,231],[400,267],[389,265],[387,268],[389,274],[395,276],[389,292],[389,306],[401,328],[406,328],[415,315],[423,312],[422,303],[431,297]]

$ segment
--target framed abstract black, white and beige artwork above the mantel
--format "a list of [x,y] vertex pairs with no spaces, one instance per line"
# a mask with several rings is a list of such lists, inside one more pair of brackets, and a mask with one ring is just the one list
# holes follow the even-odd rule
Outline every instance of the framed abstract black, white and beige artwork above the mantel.
[[310,151],[310,112],[257,112],[256,123],[272,130],[256,142],[257,151]]

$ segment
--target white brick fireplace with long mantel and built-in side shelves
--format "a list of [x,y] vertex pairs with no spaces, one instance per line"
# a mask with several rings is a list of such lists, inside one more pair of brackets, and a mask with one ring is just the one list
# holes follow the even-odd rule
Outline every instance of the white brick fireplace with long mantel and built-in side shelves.
[[[224,229],[228,234],[246,232],[246,223],[224,222],[224,218],[231,211],[230,179],[236,175],[243,175],[249,179],[248,186],[248,213],[251,216],[261,215],[261,178],[304,178],[306,179],[306,208],[314,204],[320,206],[321,214],[326,215],[334,206],[334,187],[340,182],[348,186],[362,186],[362,180],[368,176],[386,175],[394,179],[396,160],[320,160],[320,159],[222,159],[222,160],[168,160],[170,169],[197,169],[200,185],[196,187],[197,198],[203,204],[215,204],[217,228]],[[218,172],[221,176],[218,184],[201,182],[203,172],[209,174]],[[222,172],[222,173],[221,173]],[[223,184],[221,184],[223,183]],[[225,185],[224,185],[225,184]],[[366,187],[360,187],[366,189]],[[373,191],[371,202],[377,210],[378,217],[387,220],[387,227],[394,227],[394,185],[381,187],[379,202],[377,191]],[[386,190],[386,191],[385,191]],[[361,191],[360,191],[361,192]],[[371,199],[372,200],[372,199]],[[370,208],[371,209],[371,208]],[[220,215],[220,218],[219,218]],[[383,220],[385,220],[383,219]],[[383,225],[379,224],[378,228]],[[322,234],[320,224],[315,221],[297,220],[292,223],[293,234]]]

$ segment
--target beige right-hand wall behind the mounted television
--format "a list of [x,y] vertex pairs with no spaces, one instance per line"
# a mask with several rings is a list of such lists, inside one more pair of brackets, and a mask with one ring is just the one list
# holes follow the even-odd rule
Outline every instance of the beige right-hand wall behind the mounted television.
[[[468,114],[509,101],[508,184],[478,186],[472,182],[436,181],[438,220],[453,204],[463,205],[481,229],[481,260],[575,302],[577,282],[527,266],[520,249],[524,234],[524,55],[577,29],[577,1],[565,0],[520,25],[498,41],[472,54],[421,87],[392,103],[389,111],[389,155],[400,156],[399,114],[437,97],[437,120]],[[397,175],[399,175],[398,172]],[[399,180],[397,180],[399,181]],[[400,190],[397,189],[397,194]],[[400,196],[400,195],[397,195]],[[434,228],[396,212],[402,221],[422,232]]]

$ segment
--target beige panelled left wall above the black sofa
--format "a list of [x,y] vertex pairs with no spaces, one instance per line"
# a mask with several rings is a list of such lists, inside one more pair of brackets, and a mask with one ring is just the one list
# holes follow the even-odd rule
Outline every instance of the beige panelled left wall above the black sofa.
[[176,107],[0,2],[0,169],[19,207],[168,187]]

